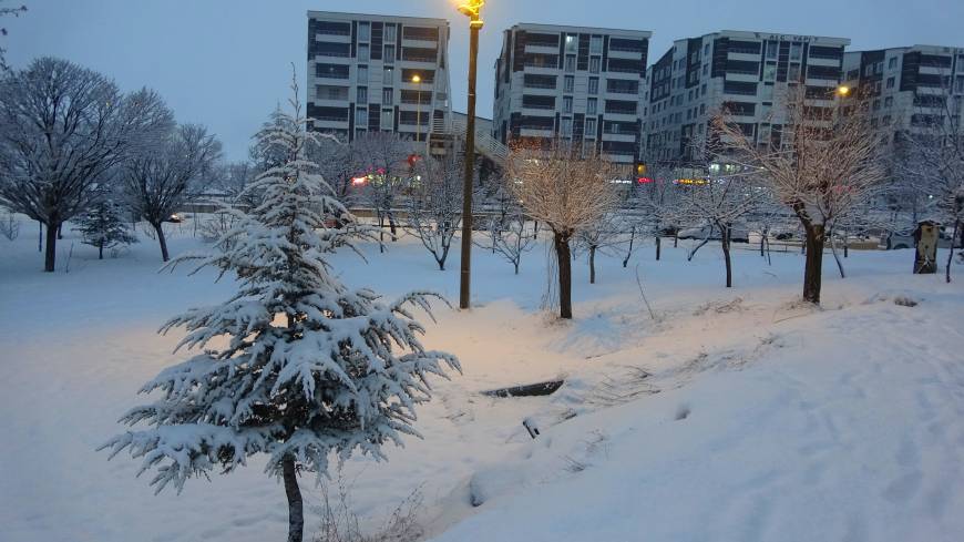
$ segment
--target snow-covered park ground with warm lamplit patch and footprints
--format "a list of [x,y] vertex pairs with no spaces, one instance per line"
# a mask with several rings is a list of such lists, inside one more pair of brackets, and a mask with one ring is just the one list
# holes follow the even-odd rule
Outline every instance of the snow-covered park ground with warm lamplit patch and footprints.
[[[198,247],[172,229],[173,253]],[[76,243],[69,274],[43,274],[35,243],[28,225],[0,238],[0,541],[284,540],[284,492],[258,460],[154,495],[137,463],[94,451],[183,358],[160,325],[232,285],[158,274],[148,238],[103,262]],[[964,267],[945,285],[911,275],[907,250],[852,252],[841,280],[828,256],[812,310],[792,303],[800,255],[737,250],[726,289],[719,250],[688,263],[684,245],[625,269],[603,257],[593,286],[577,263],[572,323],[540,309],[544,246],[519,276],[476,250],[476,308],[439,307],[424,341],[464,375],[434,382],[424,440],[346,467],[357,511],[380,522],[421,488],[440,541],[964,540]],[[337,256],[349,284],[458,298],[458,254],[447,272],[411,238],[367,255]],[[479,393],[558,376],[551,397]]]

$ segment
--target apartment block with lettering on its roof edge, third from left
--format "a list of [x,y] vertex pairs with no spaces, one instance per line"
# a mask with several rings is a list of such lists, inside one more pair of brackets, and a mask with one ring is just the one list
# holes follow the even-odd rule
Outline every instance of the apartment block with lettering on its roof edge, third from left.
[[834,105],[850,40],[724,30],[674,42],[646,74],[644,160],[687,163],[712,115],[726,110],[747,137],[781,143],[775,103],[802,86],[809,108]]

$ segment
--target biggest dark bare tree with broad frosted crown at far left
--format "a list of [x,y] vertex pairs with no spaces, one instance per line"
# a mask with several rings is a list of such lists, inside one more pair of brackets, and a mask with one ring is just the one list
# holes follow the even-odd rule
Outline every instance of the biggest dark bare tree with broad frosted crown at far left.
[[0,203],[47,226],[45,272],[61,224],[86,209],[105,172],[172,122],[153,91],[122,95],[65,60],[38,59],[0,82]]

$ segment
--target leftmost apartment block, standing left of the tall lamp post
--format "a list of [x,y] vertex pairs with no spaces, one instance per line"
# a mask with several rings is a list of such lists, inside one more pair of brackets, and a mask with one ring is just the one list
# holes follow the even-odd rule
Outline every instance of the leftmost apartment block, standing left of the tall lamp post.
[[451,125],[449,23],[308,12],[308,108],[315,130],[352,141],[367,130],[427,141]]

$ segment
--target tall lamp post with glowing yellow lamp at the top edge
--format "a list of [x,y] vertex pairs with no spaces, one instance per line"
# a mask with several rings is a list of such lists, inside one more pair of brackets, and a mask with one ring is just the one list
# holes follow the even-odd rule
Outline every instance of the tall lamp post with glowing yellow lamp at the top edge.
[[462,182],[462,268],[459,282],[459,308],[469,308],[472,277],[472,174],[475,171],[475,61],[479,57],[479,12],[485,0],[468,0],[459,12],[469,18],[469,105],[465,120],[465,176]]

